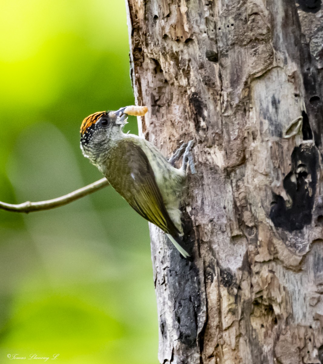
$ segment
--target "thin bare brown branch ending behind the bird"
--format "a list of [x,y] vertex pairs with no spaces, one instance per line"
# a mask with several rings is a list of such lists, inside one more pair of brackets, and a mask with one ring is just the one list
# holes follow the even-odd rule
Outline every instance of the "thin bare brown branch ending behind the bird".
[[0,201],[0,209],[12,212],[25,212],[26,214],[33,211],[55,209],[55,207],[67,205],[67,203],[73,202],[83,196],[86,196],[90,193],[100,190],[101,188],[108,185],[109,182],[104,177],[99,179],[99,181],[93,182],[90,185],[82,187],[71,193],[68,193],[67,195],[53,198],[47,201],[38,201],[38,202],[26,201],[24,203],[20,203],[19,205],[12,205],[11,203],[5,203]]

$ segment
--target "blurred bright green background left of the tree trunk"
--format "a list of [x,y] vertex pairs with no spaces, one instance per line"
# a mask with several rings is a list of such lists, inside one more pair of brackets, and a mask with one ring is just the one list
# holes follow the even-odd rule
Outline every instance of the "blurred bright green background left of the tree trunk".
[[[82,120],[134,102],[125,4],[0,4],[0,200],[58,197],[102,177],[79,149]],[[157,363],[148,225],[111,187],[0,211],[0,250],[0,363]]]

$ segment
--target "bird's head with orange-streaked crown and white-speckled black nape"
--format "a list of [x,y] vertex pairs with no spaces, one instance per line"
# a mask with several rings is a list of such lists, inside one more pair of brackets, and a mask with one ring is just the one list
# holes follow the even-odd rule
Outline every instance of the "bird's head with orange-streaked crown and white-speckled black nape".
[[128,118],[124,109],[95,112],[83,120],[80,147],[84,157],[89,158],[93,164],[101,164],[109,147],[122,138],[122,128]]

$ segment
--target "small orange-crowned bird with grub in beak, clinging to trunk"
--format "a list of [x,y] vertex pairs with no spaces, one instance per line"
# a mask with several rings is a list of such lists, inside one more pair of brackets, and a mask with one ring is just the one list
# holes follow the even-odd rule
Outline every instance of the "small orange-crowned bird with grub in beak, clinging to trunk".
[[[128,115],[144,115],[147,110],[146,106],[127,106],[87,116],[80,128],[80,148],[129,205],[163,230],[179,252],[189,258],[191,254],[183,242],[180,203],[187,164],[191,173],[196,173],[194,140],[183,143],[167,160],[152,143],[123,132]],[[182,166],[175,168],[175,161],[182,155]]]

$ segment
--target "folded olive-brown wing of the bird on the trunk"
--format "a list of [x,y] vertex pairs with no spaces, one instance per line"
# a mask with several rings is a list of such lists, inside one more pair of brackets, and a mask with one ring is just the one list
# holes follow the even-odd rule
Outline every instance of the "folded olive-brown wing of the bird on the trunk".
[[111,149],[105,177],[137,213],[167,234],[178,236],[179,231],[168,215],[152,167],[137,143],[125,139]]

